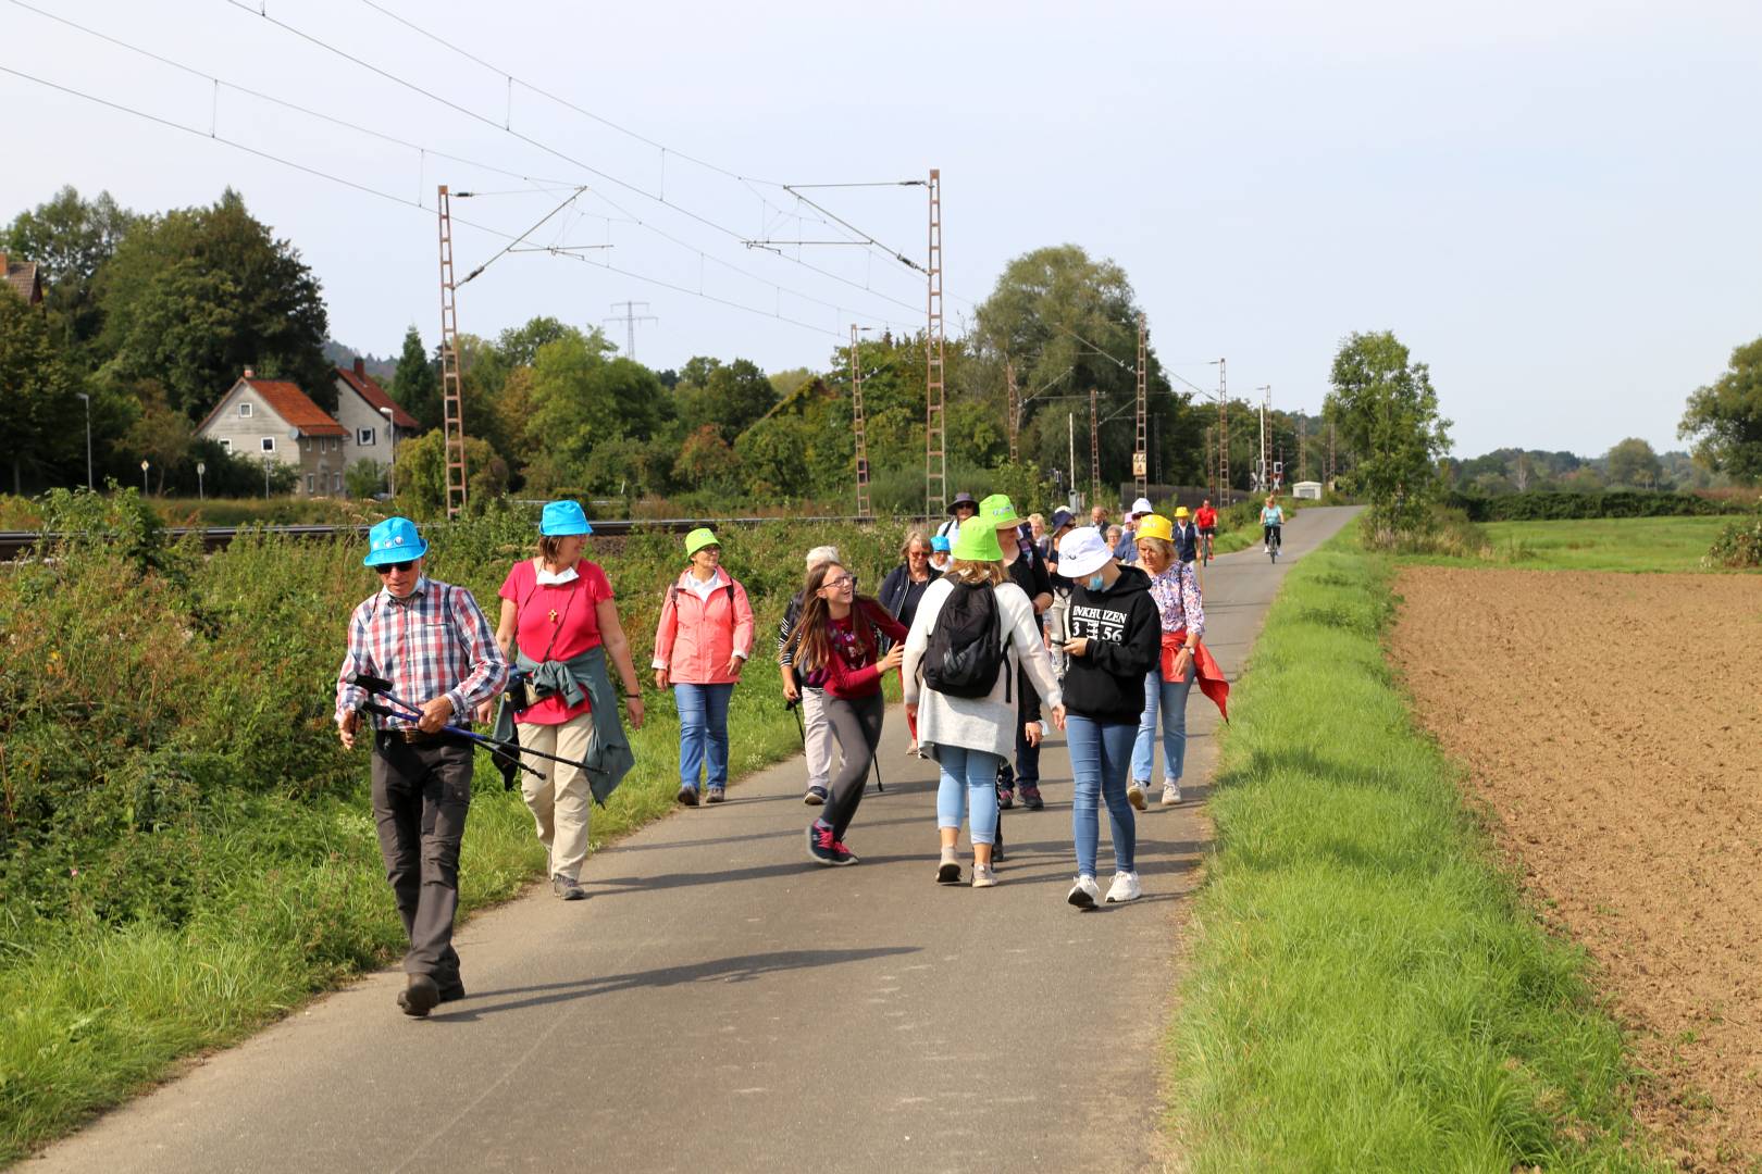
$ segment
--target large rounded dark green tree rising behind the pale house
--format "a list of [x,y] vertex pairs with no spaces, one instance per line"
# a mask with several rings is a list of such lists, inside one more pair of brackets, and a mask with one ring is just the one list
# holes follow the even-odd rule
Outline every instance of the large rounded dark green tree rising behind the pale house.
[[97,285],[106,371],[157,378],[183,415],[201,417],[247,366],[335,410],[319,280],[238,192],[141,222]]

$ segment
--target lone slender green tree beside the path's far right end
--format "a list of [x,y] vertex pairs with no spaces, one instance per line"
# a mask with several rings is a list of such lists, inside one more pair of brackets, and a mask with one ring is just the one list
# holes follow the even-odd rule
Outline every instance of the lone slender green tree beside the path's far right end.
[[1390,546],[1422,526],[1440,482],[1433,466],[1450,445],[1431,370],[1392,331],[1351,334],[1334,356],[1323,412],[1351,449],[1351,484],[1369,498],[1366,528]]

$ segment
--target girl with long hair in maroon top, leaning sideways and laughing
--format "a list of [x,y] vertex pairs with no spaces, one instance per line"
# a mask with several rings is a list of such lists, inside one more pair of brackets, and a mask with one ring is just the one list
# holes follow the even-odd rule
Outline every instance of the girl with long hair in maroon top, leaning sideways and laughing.
[[[879,602],[858,595],[856,576],[839,563],[807,572],[802,600],[789,655],[802,683],[825,690],[826,723],[844,759],[832,776],[832,797],[807,829],[807,854],[819,864],[855,864],[844,833],[881,745],[881,676],[904,658],[906,628]],[[886,655],[881,637],[893,641]]]

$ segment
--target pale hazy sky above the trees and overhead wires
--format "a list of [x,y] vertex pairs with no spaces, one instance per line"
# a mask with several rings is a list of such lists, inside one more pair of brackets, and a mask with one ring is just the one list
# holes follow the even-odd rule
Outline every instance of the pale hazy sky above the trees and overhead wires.
[[[481,194],[453,201],[460,276],[488,262],[462,331],[548,313],[622,349],[636,301],[650,366],[825,368],[853,322],[922,327],[890,253],[925,260],[899,181],[936,167],[950,333],[1011,257],[1077,243],[1193,384],[1226,357],[1232,394],[1314,412],[1339,341],[1390,329],[1459,456],[1665,451],[1762,334],[1758,44],[1762,5],[1695,0],[0,0],[0,67],[183,127],[0,72],[0,218],[63,183],[136,211],[231,185],[331,336],[388,356],[437,341],[448,183]],[[800,188],[825,213],[782,187],[816,183],[879,187]],[[745,243],[851,227],[879,246]]]

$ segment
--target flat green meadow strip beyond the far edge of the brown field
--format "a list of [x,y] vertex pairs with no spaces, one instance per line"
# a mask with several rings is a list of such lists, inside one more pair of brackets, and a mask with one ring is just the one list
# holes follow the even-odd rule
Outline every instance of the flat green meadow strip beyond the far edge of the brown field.
[[1485,549],[1417,561],[1531,570],[1704,570],[1700,558],[1730,517],[1600,517],[1482,523]]

